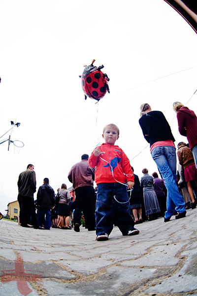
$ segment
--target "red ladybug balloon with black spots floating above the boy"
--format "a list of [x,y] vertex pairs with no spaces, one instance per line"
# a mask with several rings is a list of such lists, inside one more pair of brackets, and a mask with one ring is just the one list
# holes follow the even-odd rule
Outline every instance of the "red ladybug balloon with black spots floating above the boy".
[[84,66],[84,72],[81,77],[81,84],[83,91],[85,93],[85,100],[87,97],[91,99],[95,99],[99,101],[104,97],[106,92],[109,93],[109,86],[107,81],[109,78],[107,74],[102,73],[100,69],[104,68],[104,66],[96,67],[93,65],[95,60],[93,60],[90,66]]

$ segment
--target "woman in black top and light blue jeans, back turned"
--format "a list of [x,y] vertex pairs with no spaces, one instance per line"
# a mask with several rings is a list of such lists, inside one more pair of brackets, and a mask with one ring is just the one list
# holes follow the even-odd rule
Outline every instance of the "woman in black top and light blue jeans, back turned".
[[139,124],[144,138],[150,143],[152,158],[162,174],[167,189],[164,222],[168,222],[175,210],[176,219],[186,216],[185,202],[176,185],[176,148],[170,126],[161,111],[152,111],[149,104],[140,107]]

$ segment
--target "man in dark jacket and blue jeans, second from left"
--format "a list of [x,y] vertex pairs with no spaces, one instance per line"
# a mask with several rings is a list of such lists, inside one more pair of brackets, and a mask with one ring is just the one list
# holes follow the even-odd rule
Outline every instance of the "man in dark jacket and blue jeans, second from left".
[[49,185],[49,179],[44,178],[43,185],[41,185],[37,192],[37,206],[38,216],[37,222],[39,229],[42,228],[42,219],[45,216],[44,229],[50,230],[51,227],[51,209],[55,206],[55,192]]

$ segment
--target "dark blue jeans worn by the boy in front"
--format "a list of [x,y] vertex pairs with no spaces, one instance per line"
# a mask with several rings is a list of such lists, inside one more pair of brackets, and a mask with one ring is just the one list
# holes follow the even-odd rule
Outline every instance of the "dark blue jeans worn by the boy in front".
[[[135,229],[130,215],[130,202],[127,187],[120,183],[100,183],[97,185],[96,233],[111,233],[114,225],[123,235]],[[115,198],[114,198],[115,196]],[[117,201],[116,201],[116,200]]]

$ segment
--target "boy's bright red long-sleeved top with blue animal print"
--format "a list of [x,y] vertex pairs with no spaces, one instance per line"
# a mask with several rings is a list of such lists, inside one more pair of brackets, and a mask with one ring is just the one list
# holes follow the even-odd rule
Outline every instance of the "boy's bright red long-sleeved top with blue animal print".
[[102,144],[99,148],[103,153],[100,156],[95,156],[93,151],[88,160],[90,167],[96,167],[96,184],[134,182],[129,158],[121,148],[107,143]]

